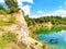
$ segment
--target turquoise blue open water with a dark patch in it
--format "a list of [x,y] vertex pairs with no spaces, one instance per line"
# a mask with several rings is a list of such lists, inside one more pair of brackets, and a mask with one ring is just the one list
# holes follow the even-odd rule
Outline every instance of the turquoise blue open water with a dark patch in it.
[[37,39],[46,42],[51,49],[66,49],[66,30],[40,34]]

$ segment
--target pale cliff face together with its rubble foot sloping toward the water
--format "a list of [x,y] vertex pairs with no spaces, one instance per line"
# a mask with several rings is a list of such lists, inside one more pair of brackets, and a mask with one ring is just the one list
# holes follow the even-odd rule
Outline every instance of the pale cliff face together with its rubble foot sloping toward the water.
[[[32,49],[31,47],[33,47],[34,49],[41,49],[42,44],[36,41],[35,39],[29,37],[28,24],[23,16],[24,15],[21,10],[19,10],[18,13],[14,13],[14,17],[16,20],[16,25],[18,25],[18,27],[20,26],[20,32],[16,32],[19,35],[18,36],[19,40],[21,40],[22,44],[28,45],[26,49]],[[37,42],[37,45],[34,45],[35,42]]]

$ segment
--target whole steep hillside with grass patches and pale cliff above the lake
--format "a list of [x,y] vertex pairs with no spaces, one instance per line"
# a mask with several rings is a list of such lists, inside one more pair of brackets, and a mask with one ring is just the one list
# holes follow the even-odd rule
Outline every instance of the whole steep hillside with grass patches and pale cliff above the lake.
[[21,9],[12,14],[0,15],[0,49],[43,49],[41,42],[29,37]]

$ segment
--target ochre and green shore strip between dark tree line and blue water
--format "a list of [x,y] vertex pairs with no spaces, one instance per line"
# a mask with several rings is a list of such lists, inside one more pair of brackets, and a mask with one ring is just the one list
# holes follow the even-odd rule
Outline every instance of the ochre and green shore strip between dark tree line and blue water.
[[50,34],[51,32],[66,30],[66,25],[42,25],[37,24],[29,27],[30,36],[36,38],[40,34]]

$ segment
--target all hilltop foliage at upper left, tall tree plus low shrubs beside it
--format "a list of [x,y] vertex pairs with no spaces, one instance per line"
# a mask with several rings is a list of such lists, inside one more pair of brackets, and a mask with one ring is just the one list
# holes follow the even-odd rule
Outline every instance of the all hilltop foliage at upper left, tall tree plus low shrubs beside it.
[[18,2],[16,0],[4,0],[8,8],[4,8],[2,4],[0,4],[0,14],[11,14],[14,12],[18,12]]

